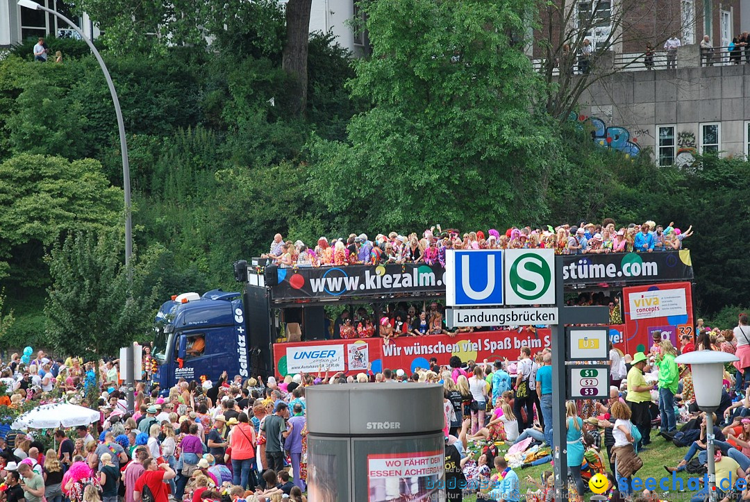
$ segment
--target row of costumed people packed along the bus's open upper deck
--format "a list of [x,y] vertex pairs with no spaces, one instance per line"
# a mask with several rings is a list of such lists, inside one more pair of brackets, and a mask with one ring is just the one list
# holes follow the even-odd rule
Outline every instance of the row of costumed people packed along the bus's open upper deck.
[[682,240],[692,235],[692,226],[684,232],[670,222],[667,227],[646,221],[618,226],[612,218],[601,224],[580,221],[556,228],[510,227],[505,233],[490,229],[460,233],[440,225],[425,230],[422,236],[397,232],[379,233],[370,240],[365,233],[346,238],[323,236],[317,245],[300,240],[284,241],[277,233],[268,254],[278,266],[344,266],[355,264],[425,263],[445,266],[449,249],[554,249],[555,254],[606,254],[654,252],[682,249]]

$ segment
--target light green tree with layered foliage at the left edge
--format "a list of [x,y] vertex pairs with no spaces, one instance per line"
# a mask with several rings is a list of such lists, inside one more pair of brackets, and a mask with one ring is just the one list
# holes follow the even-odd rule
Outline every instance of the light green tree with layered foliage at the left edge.
[[46,286],[42,258],[58,236],[112,227],[121,212],[98,161],[16,155],[0,164],[0,263],[13,286]]

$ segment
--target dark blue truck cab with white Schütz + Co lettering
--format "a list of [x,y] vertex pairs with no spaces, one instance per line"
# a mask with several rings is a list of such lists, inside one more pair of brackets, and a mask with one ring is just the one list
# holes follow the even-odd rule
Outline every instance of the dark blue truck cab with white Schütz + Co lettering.
[[180,379],[209,380],[226,371],[251,374],[250,344],[242,293],[183,293],[164,302],[154,324],[154,383],[169,389]]

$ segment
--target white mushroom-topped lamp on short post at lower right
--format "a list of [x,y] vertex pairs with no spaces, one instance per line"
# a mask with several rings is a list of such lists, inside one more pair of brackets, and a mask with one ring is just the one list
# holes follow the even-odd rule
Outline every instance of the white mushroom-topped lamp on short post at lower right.
[[706,412],[706,455],[708,460],[709,500],[716,499],[716,467],[713,463],[713,417],[711,413],[721,403],[721,382],[724,380],[724,364],[739,361],[734,354],[718,350],[696,350],[677,356],[675,362],[691,365],[695,404]]

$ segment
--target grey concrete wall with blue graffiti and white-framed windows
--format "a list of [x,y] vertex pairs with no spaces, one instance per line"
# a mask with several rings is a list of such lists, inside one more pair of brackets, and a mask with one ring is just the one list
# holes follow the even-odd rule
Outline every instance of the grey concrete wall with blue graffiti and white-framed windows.
[[700,66],[695,45],[681,47],[678,61],[676,70],[623,71],[589,87],[578,102],[581,118],[601,130],[595,140],[649,147],[661,165],[689,165],[710,151],[748,156],[750,65]]

